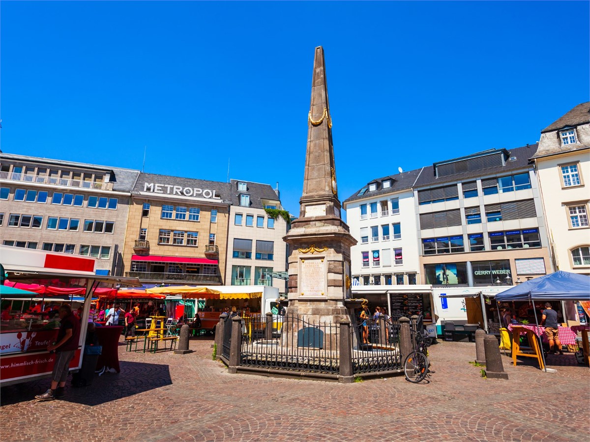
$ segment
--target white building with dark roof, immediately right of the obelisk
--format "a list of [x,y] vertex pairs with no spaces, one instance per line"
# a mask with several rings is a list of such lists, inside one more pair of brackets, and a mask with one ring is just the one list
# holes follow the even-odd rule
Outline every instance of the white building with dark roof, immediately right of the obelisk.
[[343,202],[346,223],[358,241],[350,248],[350,266],[360,285],[421,283],[412,192],[419,173],[373,180]]

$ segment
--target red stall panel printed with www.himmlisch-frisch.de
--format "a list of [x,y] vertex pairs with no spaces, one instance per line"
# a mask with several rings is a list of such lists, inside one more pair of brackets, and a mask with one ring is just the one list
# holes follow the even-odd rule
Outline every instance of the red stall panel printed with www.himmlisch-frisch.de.
[[[70,370],[80,368],[80,353],[77,349],[70,361]],[[49,375],[53,371],[55,353],[32,352],[15,354],[2,358],[0,362],[0,381],[26,379],[32,376]]]

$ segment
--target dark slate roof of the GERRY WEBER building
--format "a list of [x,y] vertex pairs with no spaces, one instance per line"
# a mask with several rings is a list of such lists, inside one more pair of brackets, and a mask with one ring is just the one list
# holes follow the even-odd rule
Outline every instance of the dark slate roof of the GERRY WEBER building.
[[[503,150],[503,149],[501,149]],[[497,173],[509,173],[514,170],[527,169],[532,167],[532,162],[529,161],[537,151],[537,144],[529,144],[523,147],[516,147],[514,149],[506,149],[509,152],[509,157],[516,157],[515,161],[506,161],[504,166],[489,167],[487,169],[480,169],[462,173],[455,173],[453,175],[447,175],[437,178],[434,174],[434,165],[424,167],[420,174],[415,188],[432,186],[434,184],[444,184],[466,179],[476,179],[481,176],[493,175]]]

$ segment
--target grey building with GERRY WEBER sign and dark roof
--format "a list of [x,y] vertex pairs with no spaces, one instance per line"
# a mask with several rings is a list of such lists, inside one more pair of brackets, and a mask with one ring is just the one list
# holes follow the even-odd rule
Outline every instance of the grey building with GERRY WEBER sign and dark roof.
[[414,206],[424,283],[512,285],[552,272],[537,145],[486,150],[424,167]]

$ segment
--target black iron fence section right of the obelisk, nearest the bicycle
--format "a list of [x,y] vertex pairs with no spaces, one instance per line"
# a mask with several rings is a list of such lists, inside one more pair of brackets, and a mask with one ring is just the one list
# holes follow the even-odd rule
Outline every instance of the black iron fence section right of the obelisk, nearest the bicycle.
[[351,324],[350,332],[353,374],[401,369],[399,321],[391,318],[359,320]]

